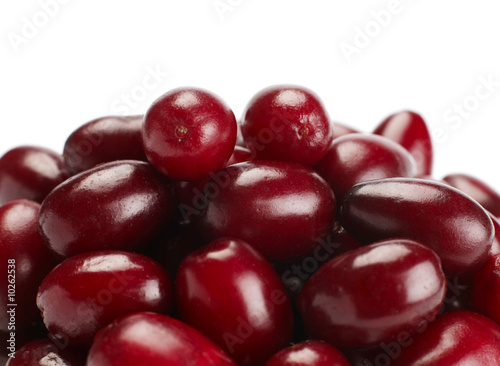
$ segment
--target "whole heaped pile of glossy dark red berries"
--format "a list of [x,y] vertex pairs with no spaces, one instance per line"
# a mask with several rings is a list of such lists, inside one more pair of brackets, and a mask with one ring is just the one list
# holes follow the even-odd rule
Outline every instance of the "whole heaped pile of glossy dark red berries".
[[[0,158],[7,365],[499,365],[500,196],[414,112],[172,90]],[[5,344],[5,343],[4,343]]]

